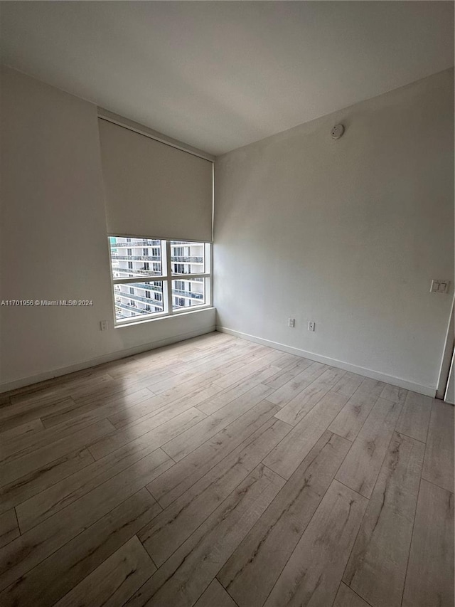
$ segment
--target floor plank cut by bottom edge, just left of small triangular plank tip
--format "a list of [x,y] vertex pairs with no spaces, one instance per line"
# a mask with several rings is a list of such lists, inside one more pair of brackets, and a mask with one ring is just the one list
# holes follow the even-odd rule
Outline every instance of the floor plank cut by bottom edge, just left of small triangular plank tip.
[[326,607],[335,599],[368,500],[334,480],[265,607]]

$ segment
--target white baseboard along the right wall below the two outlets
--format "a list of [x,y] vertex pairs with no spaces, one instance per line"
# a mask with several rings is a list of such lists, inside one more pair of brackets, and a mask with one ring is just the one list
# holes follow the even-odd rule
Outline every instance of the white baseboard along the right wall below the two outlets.
[[371,379],[378,379],[379,381],[384,381],[385,384],[392,384],[392,386],[398,386],[399,388],[411,390],[412,392],[418,392],[419,394],[424,394],[425,396],[432,396],[433,398],[436,396],[436,387],[422,386],[422,384],[416,384],[414,381],[407,381],[407,379],[402,379],[401,377],[387,375],[385,373],[380,373],[380,371],[373,371],[373,369],[365,369],[363,366],[324,357],[321,356],[321,354],[314,354],[314,352],[306,352],[306,350],[294,348],[293,346],[287,346],[286,344],[280,344],[279,342],[272,342],[270,339],[263,339],[262,337],[256,337],[255,335],[249,335],[247,333],[235,331],[234,329],[228,329],[228,327],[220,327],[217,325],[216,330],[220,333],[228,333],[234,337],[247,339],[249,342],[255,342],[256,344],[262,344],[263,346],[269,346],[277,350],[282,350],[282,352],[296,354],[298,357],[304,357],[316,362],[328,364],[330,366],[336,366],[337,369],[351,371],[352,373],[364,375],[365,377],[370,377]]

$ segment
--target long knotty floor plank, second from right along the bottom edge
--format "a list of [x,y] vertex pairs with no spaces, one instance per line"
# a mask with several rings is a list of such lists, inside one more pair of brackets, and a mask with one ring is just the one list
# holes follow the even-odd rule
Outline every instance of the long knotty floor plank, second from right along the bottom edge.
[[423,443],[395,433],[343,581],[375,607],[400,607],[424,460]]

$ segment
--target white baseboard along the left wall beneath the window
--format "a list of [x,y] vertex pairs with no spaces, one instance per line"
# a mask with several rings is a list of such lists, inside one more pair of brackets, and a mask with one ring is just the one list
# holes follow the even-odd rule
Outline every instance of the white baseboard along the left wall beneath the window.
[[175,335],[173,337],[166,337],[166,339],[159,339],[156,342],[150,342],[149,344],[142,344],[141,346],[137,346],[134,348],[128,348],[125,350],[117,350],[116,352],[110,352],[109,354],[104,354],[101,357],[96,357],[94,359],[90,359],[87,361],[77,362],[75,364],[70,364],[68,366],[62,366],[58,369],[53,369],[52,371],[45,371],[43,373],[38,373],[37,375],[31,375],[28,377],[23,377],[21,379],[16,379],[15,381],[9,381],[4,384],[0,384],[0,394],[3,392],[9,392],[11,390],[17,390],[18,388],[23,388],[24,386],[31,386],[32,384],[38,384],[40,381],[45,381],[46,379],[53,379],[54,377],[60,377],[61,375],[67,375],[68,373],[74,373],[75,371],[82,371],[83,369],[90,369],[92,366],[97,366],[99,364],[103,364],[105,362],[111,362],[113,360],[119,360],[122,358],[127,358],[134,356],[134,354],[140,354],[141,352],[147,352],[149,350],[154,350],[156,348],[161,348],[163,346],[169,346],[171,344],[176,344],[177,342],[183,342],[185,339],[191,339],[192,337],[199,337],[199,335],[205,335],[206,333],[213,333],[216,330],[215,325],[211,325],[210,327],[205,327],[204,329],[198,329],[196,331],[191,331],[189,333],[181,333],[179,335]]

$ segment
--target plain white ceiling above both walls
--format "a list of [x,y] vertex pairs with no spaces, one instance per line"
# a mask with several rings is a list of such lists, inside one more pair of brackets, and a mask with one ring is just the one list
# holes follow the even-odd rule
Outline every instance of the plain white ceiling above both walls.
[[8,1],[1,60],[222,154],[454,64],[449,1]]

